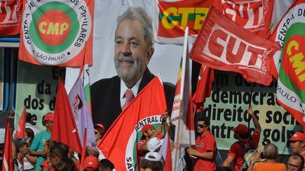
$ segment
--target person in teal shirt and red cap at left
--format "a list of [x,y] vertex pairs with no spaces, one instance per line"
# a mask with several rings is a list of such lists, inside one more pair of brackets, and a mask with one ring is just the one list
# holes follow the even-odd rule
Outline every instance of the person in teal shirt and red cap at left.
[[34,137],[32,141],[32,145],[30,146],[30,151],[29,151],[30,155],[37,156],[37,163],[35,167],[35,169],[37,170],[41,170],[40,165],[47,157],[47,153],[46,151],[43,151],[43,148],[45,141],[51,138],[53,118],[54,118],[53,113],[47,113],[47,115],[44,115],[42,122],[44,123],[46,129]]

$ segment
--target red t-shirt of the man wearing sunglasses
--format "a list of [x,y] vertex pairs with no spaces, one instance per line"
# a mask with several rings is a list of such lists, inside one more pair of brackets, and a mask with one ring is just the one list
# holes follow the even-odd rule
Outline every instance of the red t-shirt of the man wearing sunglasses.
[[213,159],[207,160],[203,158],[198,158],[194,166],[194,171],[213,171],[216,169],[215,159],[216,159],[216,141],[213,134],[210,132],[205,132],[201,135],[201,137],[197,137],[196,139],[196,150],[198,152],[207,152],[213,151],[214,156]]

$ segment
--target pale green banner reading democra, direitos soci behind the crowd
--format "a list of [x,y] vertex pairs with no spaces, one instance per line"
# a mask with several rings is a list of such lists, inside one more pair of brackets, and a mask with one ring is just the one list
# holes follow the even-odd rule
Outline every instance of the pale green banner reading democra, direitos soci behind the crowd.
[[[280,154],[291,153],[287,139],[302,127],[277,103],[275,82],[264,87],[261,84],[246,82],[237,73],[219,70],[215,70],[213,91],[211,96],[205,99],[203,110],[203,115],[211,120],[210,129],[215,135],[217,148],[229,150],[234,141],[237,141],[231,129],[239,123],[248,125],[250,117],[247,109],[250,103],[262,127],[260,144],[273,143]],[[253,131],[253,122],[250,123]]]

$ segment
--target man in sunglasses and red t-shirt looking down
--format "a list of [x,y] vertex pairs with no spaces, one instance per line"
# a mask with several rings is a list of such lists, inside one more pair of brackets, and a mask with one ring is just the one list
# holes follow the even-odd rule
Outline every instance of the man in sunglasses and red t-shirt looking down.
[[187,149],[190,156],[197,158],[193,170],[215,170],[216,141],[214,135],[210,133],[210,120],[207,117],[198,118],[196,127],[198,137],[195,149],[191,147]]

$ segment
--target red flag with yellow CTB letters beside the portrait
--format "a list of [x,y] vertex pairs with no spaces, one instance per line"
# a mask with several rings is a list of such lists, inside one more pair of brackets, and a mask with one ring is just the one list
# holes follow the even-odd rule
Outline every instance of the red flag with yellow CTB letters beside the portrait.
[[213,0],[154,0],[153,27],[157,42],[182,45],[186,27],[195,39],[212,4]]

